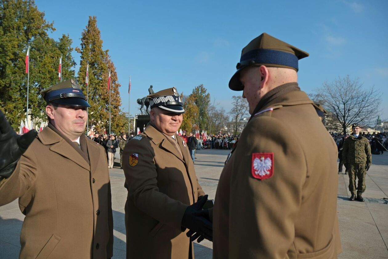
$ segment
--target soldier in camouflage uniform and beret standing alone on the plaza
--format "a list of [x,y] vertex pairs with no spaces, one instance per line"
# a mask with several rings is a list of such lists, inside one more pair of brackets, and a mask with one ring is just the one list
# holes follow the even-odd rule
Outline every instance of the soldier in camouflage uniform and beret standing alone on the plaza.
[[[371,145],[366,137],[360,135],[360,125],[352,125],[353,134],[345,139],[342,150],[342,160],[349,173],[349,191],[352,196],[349,200],[364,202],[362,193],[365,191],[365,175],[372,164]],[[356,177],[359,183],[356,188]]]

